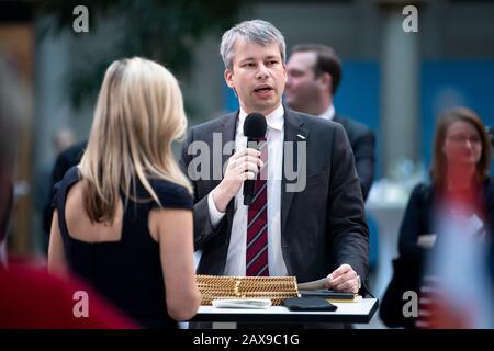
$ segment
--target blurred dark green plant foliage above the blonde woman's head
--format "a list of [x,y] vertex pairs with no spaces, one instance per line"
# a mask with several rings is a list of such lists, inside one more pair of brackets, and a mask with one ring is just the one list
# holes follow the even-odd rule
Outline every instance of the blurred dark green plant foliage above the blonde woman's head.
[[[104,37],[103,49],[80,53],[69,77],[67,93],[75,109],[93,101],[108,65],[122,57],[143,56],[167,66],[188,79],[194,64],[193,48],[207,34],[222,33],[238,20],[244,1],[225,0],[47,0],[38,14],[49,16],[41,37],[71,32],[77,5],[89,10],[89,33],[74,34],[76,41]],[[116,27],[116,30],[115,30]],[[82,64],[80,64],[82,63]]]

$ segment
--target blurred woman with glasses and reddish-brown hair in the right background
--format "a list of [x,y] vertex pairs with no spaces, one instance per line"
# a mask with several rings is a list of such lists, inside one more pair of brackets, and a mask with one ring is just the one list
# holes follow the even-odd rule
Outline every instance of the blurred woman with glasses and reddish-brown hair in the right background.
[[[468,231],[479,240],[491,240],[494,228],[491,155],[486,128],[473,111],[456,107],[440,116],[435,134],[431,183],[418,184],[412,192],[400,229],[400,257],[393,261],[394,275],[381,304],[381,319],[389,327],[434,327],[428,318],[404,316],[403,293],[411,291],[425,297],[434,290],[435,283],[424,279],[434,278],[429,274],[429,262],[437,254],[436,244],[448,234],[445,230],[448,219],[459,219],[458,223],[468,226],[464,235]],[[420,299],[419,310],[424,316],[427,315],[424,310],[430,307],[429,301]]]

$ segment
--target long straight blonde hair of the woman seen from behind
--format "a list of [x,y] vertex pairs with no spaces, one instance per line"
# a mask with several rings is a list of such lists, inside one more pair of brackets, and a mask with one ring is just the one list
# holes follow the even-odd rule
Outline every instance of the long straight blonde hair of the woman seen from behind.
[[175,182],[191,193],[171,151],[186,129],[182,94],[170,71],[138,57],[114,61],[104,75],[80,163],[90,220],[113,222],[120,190],[138,201],[137,180],[159,205],[149,179]]

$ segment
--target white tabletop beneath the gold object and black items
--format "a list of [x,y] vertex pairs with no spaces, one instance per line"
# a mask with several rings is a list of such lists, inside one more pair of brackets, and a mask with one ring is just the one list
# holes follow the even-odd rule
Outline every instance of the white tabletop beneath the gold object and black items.
[[199,307],[191,321],[256,321],[256,322],[351,322],[367,324],[378,310],[377,298],[362,298],[356,303],[333,303],[334,312],[292,312],[283,306],[262,309]]

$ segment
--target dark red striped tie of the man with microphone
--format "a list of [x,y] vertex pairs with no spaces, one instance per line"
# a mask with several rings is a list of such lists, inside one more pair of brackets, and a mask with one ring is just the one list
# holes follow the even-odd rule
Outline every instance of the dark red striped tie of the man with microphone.
[[254,199],[247,214],[246,275],[268,276],[268,143],[259,144],[265,166],[257,174]]

